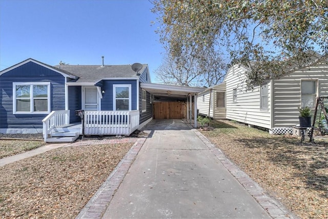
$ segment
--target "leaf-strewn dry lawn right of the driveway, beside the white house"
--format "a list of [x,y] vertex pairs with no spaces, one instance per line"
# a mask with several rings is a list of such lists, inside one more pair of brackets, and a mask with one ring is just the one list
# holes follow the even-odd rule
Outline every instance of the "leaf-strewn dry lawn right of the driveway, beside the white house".
[[201,131],[263,189],[301,218],[328,218],[328,138],[293,136],[229,121]]

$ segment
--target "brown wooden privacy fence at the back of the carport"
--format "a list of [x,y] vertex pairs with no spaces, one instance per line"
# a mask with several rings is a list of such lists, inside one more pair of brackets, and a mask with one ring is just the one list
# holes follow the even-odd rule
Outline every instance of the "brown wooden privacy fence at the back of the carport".
[[[165,120],[169,118],[187,118],[186,102],[154,102],[153,114],[155,120]],[[194,103],[192,106],[194,113]]]

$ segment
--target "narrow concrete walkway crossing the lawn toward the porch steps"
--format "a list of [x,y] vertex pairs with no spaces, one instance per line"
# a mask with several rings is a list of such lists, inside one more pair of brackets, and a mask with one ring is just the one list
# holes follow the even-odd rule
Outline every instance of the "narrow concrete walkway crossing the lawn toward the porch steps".
[[66,146],[68,144],[70,144],[70,143],[49,144],[49,145],[38,147],[38,148],[36,148],[34,150],[31,150],[31,151],[27,151],[25,153],[21,153],[21,154],[16,154],[16,155],[13,155],[13,156],[4,157],[4,158],[0,159],[0,167],[4,166],[6,164],[13,163],[15,161],[23,160],[23,159],[25,159],[27,157],[31,157],[31,156],[34,156],[36,154],[44,153],[46,151],[50,151],[50,150],[53,150],[53,149],[56,149],[56,148],[60,148],[60,147]]

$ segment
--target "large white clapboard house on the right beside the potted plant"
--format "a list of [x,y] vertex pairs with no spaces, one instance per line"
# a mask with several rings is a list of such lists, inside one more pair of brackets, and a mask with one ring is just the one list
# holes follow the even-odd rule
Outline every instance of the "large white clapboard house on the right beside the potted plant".
[[[317,53],[313,56],[320,57]],[[247,68],[231,67],[223,81],[226,85],[226,118],[266,128],[273,134],[292,133],[292,127],[299,124],[298,108],[309,106],[314,110],[315,98],[328,96],[327,63],[326,59],[315,66],[271,79],[251,91],[245,84]]]

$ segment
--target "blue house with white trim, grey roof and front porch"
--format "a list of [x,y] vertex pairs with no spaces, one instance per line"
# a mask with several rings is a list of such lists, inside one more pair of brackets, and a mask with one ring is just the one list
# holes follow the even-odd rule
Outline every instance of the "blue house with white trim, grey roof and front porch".
[[153,114],[140,83],[151,83],[148,65],[135,72],[131,65],[50,66],[29,58],[0,72],[0,133],[47,138],[80,123],[75,111],[85,110],[86,134],[131,134]]

